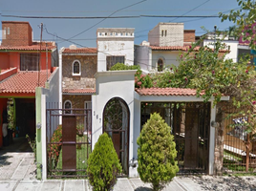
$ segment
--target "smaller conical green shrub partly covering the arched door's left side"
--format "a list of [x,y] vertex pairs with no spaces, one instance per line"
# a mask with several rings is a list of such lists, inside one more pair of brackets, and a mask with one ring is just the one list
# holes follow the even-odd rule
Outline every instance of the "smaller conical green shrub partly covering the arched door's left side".
[[117,182],[117,174],[121,172],[121,164],[117,157],[112,139],[102,134],[88,159],[88,178],[93,190],[110,190]]

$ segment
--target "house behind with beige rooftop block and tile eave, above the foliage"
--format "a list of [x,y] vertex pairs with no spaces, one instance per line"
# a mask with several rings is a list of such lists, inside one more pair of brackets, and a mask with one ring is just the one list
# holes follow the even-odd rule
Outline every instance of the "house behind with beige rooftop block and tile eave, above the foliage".
[[135,46],[135,64],[140,65],[144,73],[178,66],[179,56],[193,42],[195,30],[184,30],[183,23],[159,23],[148,32],[148,42]]

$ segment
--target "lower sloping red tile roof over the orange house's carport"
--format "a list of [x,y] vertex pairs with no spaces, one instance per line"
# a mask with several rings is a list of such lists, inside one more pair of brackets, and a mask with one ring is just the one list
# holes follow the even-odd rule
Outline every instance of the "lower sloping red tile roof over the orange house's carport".
[[[48,78],[50,77],[48,74]],[[45,87],[47,80],[46,72],[40,72],[40,87]],[[38,83],[38,72],[19,72],[13,74],[7,79],[0,82],[0,93],[35,93]]]

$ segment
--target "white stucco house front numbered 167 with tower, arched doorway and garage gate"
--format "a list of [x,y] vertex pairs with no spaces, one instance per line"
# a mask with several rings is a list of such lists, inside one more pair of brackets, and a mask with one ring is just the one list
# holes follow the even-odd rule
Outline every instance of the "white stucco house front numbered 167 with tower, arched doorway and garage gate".
[[[138,159],[137,138],[150,114],[158,112],[172,128],[180,170],[198,170],[212,175],[215,128],[210,122],[216,117],[212,100],[204,103],[196,96],[196,91],[190,89],[135,89],[136,71],[108,71],[108,65],[114,65],[118,59],[133,64],[130,62],[134,52],[133,38],[133,29],[97,30],[98,68],[96,94],[92,96],[92,148],[102,133],[108,133],[124,175],[138,176],[133,165]],[[114,61],[110,62],[110,58]],[[228,96],[223,100],[228,100]]]

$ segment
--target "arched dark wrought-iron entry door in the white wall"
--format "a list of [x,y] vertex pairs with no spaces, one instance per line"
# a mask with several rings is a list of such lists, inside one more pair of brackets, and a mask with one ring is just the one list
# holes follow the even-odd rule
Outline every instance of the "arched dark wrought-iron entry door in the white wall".
[[103,133],[113,141],[120,159],[123,173],[128,175],[130,112],[126,102],[114,97],[105,105],[103,112]]

